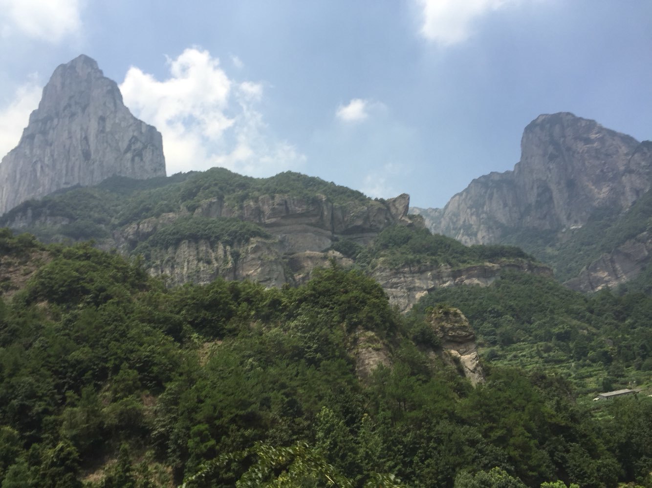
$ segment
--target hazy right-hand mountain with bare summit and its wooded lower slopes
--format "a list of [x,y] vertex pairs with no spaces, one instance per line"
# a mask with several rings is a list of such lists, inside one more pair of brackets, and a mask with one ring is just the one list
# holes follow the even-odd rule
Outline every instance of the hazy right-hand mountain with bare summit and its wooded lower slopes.
[[[466,244],[518,245],[551,264],[561,280],[570,280],[593,261],[610,260],[602,254],[646,230],[634,225],[634,235],[625,236],[617,226],[607,232],[651,181],[651,142],[570,113],[541,115],[526,127],[513,171],[473,180],[443,209],[412,208],[411,213],[422,215],[432,232]],[[631,230],[631,217],[628,222]],[[620,252],[617,262],[594,265],[595,276],[585,271],[581,284],[572,286],[592,291],[635,277],[647,262],[647,251],[639,247],[635,256],[623,258]]]

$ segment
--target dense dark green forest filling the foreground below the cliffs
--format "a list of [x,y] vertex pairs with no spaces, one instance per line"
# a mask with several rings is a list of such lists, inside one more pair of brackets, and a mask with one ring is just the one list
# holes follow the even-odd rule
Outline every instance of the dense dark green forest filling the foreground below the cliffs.
[[[652,398],[585,401],[589,383],[509,349],[620,364],[619,386],[649,368],[642,295],[508,273],[484,303],[452,289],[402,316],[355,269],[166,288],[118,254],[7,230],[0,270],[3,488],[651,486]],[[541,301],[521,303],[532,287]],[[490,347],[484,383],[444,360],[428,306],[469,316]],[[361,349],[385,357],[368,375]]]

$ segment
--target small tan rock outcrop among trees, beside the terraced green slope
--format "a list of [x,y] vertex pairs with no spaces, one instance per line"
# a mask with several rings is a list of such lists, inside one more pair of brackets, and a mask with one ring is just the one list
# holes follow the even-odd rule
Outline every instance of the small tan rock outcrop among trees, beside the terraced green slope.
[[433,310],[428,321],[441,340],[443,358],[457,366],[473,385],[484,381],[475,333],[464,314],[457,308],[441,308]]

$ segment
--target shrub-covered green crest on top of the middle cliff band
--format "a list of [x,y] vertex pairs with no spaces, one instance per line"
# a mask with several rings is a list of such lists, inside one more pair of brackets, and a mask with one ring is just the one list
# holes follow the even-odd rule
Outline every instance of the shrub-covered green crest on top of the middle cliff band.
[[62,190],[29,200],[3,215],[1,223],[22,226],[43,240],[102,239],[113,230],[164,213],[192,215],[206,200],[219,200],[237,213],[247,200],[266,195],[365,202],[359,191],[299,173],[251,178],[222,168],[179,173],[168,178],[132,180],[113,177],[95,187]]

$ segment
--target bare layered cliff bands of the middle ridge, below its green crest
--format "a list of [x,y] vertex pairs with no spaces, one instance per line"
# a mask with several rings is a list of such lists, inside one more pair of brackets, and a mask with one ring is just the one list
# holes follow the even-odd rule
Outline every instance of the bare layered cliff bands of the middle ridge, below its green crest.
[[[386,202],[369,200],[364,204],[333,204],[323,195],[262,195],[235,207],[225,204],[222,198],[211,198],[200,202],[195,217],[236,217],[259,224],[271,237],[252,239],[235,248],[221,243],[211,246],[207,241],[182,241],[169,249],[153,251],[154,264],[149,272],[167,275],[170,284],[208,283],[216,277],[256,280],[265,286],[301,284],[310,278],[312,269],[327,266],[331,260],[351,264],[339,252],[323,252],[334,241],[346,238],[366,243],[387,226],[407,225],[408,208],[409,195],[405,194]],[[158,229],[188,215],[187,211],[165,213],[129,224],[115,232],[104,247],[117,247],[128,254]]]

